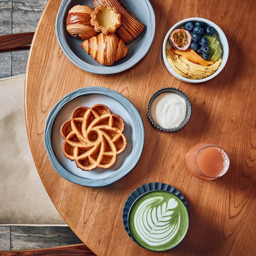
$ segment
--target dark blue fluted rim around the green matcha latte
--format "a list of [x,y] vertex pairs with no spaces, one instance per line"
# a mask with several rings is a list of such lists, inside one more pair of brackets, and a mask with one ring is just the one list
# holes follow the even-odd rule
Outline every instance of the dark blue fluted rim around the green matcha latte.
[[[162,183],[162,182],[150,182],[150,183],[146,183],[144,185],[141,185],[140,187],[134,189],[132,191],[132,193],[127,197],[125,203],[124,203],[124,207],[123,207],[123,224],[124,224],[124,229],[127,233],[127,235],[132,239],[133,242],[135,242],[136,244],[138,244],[136,242],[136,240],[133,238],[130,229],[129,229],[129,224],[128,224],[128,218],[129,218],[129,213],[130,210],[132,208],[132,205],[135,203],[135,201],[140,198],[141,196],[151,192],[151,191],[167,191],[169,193],[172,193],[175,196],[178,196],[180,198],[180,200],[182,201],[182,203],[185,205],[187,211],[188,211],[188,227],[189,227],[189,208],[188,208],[188,203],[186,201],[186,199],[184,198],[184,196],[180,193],[180,191],[174,187],[172,187],[171,185]],[[188,228],[187,231],[185,233],[185,235],[183,236],[183,238],[180,240],[180,242],[178,244],[176,244],[175,246],[173,246],[172,248],[176,247],[177,245],[179,245],[181,243],[181,241],[184,239],[184,237],[186,236],[188,232]],[[139,244],[141,247],[143,247],[141,244]],[[143,247],[144,249],[148,250],[148,251],[152,251],[149,250],[145,247]],[[172,248],[165,250],[165,251],[169,251]],[[163,252],[163,251],[153,251],[153,252]]]

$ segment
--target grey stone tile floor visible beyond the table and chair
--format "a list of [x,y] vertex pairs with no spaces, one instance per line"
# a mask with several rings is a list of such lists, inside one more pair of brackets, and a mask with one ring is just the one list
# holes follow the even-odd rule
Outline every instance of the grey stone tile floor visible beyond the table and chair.
[[[35,31],[46,0],[0,0],[0,36]],[[0,54],[0,78],[25,74],[28,51]],[[1,192],[0,192],[1,193]],[[82,243],[68,227],[0,227],[0,250]]]

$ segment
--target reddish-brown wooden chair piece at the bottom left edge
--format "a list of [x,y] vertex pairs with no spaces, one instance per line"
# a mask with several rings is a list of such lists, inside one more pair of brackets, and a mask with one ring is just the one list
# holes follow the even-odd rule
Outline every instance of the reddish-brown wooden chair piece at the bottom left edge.
[[68,246],[59,246],[35,250],[19,250],[19,251],[0,251],[1,256],[95,256],[93,252],[84,244],[75,244]]

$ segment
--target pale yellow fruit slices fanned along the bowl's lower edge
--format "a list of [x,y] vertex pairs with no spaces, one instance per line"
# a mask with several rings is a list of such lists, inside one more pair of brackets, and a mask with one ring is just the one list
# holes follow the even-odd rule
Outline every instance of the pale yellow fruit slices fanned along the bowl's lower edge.
[[180,76],[189,79],[203,79],[211,76],[221,64],[221,59],[215,61],[210,66],[202,66],[189,61],[185,56],[178,55],[166,49],[166,57],[172,69]]

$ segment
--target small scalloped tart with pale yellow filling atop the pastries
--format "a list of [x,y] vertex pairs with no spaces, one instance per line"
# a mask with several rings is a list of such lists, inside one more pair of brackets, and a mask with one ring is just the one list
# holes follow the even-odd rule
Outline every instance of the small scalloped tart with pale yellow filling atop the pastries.
[[121,14],[115,6],[108,4],[96,6],[91,13],[91,17],[91,25],[94,26],[94,30],[101,31],[104,35],[115,33],[116,28],[121,25]]

